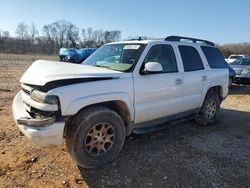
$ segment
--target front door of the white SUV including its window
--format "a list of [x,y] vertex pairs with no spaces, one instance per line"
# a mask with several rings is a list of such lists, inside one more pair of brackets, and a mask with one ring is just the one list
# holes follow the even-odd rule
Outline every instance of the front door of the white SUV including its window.
[[147,62],[158,62],[162,72],[134,75],[135,123],[176,114],[182,104],[182,75],[171,45],[152,46],[145,57]]

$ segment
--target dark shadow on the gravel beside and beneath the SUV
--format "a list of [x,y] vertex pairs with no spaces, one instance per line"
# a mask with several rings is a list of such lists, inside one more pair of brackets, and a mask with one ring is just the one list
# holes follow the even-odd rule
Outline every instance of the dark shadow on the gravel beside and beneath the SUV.
[[133,134],[114,161],[79,167],[81,176],[90,187],[247,187],[250,112],[221,109],[220,116],[206,129],[189,121]]

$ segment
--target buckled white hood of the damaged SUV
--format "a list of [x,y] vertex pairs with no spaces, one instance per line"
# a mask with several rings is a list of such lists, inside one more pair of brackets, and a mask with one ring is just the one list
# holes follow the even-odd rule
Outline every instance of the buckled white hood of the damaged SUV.
[[122,72],[82,64],[35,61],[21,77],[21,83],[44,86],[47,82],[82,78],[117,78]]

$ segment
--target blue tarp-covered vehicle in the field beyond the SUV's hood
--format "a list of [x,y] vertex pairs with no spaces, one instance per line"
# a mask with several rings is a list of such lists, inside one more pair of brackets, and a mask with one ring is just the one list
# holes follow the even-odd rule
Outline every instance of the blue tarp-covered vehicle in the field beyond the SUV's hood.
[[60,61],[70,63],[82,63],[96,50],[97,48],[61,48],[58,56]]

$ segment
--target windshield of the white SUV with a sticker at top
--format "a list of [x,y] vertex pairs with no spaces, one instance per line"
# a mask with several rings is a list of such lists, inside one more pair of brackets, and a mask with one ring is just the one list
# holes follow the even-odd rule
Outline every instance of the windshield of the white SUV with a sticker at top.
[[145,44],[108,44],[94,52],[82,64],[130,72],[144,47]]

